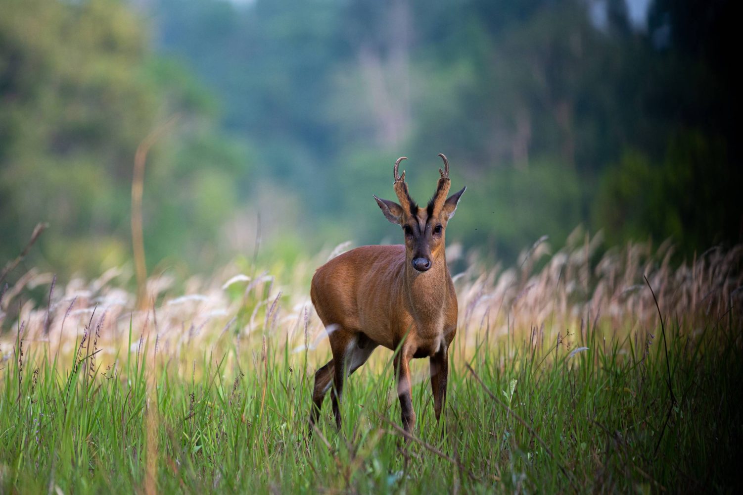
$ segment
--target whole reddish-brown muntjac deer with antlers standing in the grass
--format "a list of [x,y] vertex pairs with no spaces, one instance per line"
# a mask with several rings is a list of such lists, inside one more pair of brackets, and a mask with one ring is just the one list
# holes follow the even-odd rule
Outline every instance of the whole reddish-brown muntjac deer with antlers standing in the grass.
[[457,297],[447,268],[445,233],[464,190],[449,193],[449,162],[439,169],[436,192],[425,208],[410,198],[405,171],[395,193],[400,204],[377,198],[384,216],[403,229],[404,245],[363,246],[325,263],[312,277],[311,298],[328,331],[333,359],[315,373],[310,432],[319,418],[322,399],[331,390],[333,412],[340,428],[343,381],[377,346],[399,349],[395,377],[407,432],[415,425],[410,396],[409,361],[430,357],[436,421],[447,398],[449,346],[457,330]]

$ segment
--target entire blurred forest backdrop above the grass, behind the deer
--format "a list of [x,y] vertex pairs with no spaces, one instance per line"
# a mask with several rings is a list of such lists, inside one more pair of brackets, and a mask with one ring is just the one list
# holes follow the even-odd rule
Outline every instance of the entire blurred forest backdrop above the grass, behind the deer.
[[[724,0],[0,0],[0,265],[291,262],[399,242],[398,156],[449,242],[513,262],[578,224],[678,256],[739,242],[739,16]],[[259,239],[258,239],[259,238]],[[12,278],[12,276],[11,276]]]

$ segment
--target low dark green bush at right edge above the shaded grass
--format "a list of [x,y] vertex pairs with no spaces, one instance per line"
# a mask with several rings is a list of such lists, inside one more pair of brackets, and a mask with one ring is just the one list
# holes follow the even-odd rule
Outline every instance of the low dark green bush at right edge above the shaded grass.
[[606,227],[612,243],[641,236],[657,242],[670,238],[681,253],[692,253],[739,235],[741,181],[721,140],[679,132],[669,141],[663,163],[627,152],[606,172],[594,224]]

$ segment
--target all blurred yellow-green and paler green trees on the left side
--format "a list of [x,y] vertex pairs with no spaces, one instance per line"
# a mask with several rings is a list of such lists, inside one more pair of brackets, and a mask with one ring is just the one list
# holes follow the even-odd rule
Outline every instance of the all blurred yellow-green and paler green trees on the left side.
[[[246,161],[215,131],[204,90],[149,53],[141,19],[120,1],[7,0],[2,10],[0,259],[37,221],[51,224],[39,250],[55,271],[95,273],[129,259],[134,150],[176,112],[178,131],[147,166],[149,260],[201,259],[235,206]],[[184,183],[185,194],[163,194]]]

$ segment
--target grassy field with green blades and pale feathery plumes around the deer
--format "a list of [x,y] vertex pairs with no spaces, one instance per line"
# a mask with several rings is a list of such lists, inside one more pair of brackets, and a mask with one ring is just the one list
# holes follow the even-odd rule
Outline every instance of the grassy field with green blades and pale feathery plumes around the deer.
[[342,430],[327,399],[308,439],[326,256],[163,274],[140,308],[126,271],[32,270],[0,298],[0,492],[739,490],[743,247],[671,268],[667,245],[599,246],[467,260],[447,409],[436,424],[413,361],[409,441],[383,349],[348,381]]

